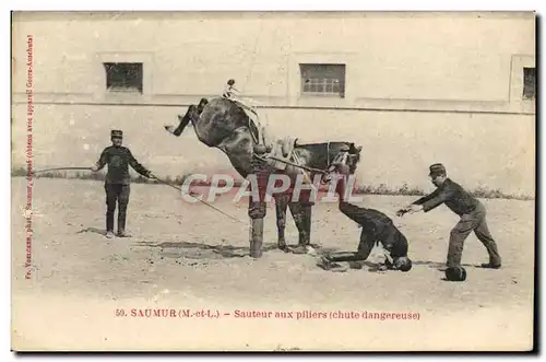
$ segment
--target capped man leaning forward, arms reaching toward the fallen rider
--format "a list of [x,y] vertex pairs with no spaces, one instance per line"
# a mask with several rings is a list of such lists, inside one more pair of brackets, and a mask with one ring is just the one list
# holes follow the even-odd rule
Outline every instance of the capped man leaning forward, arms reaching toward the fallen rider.
[[432,184],[437,186],[437,189],[432,194],[422,197],[404,209],[399,210],[397,214],[401,217],[406,212],[428,212],[446,203],[451,211],[461,217],[461,220],[450,234],[447,260],[448,269],[461,268],[464,241],[473,231],[489,254],[489,262],[483,264],[482,267],[500,268],[500,255],[497,244],[487,227],[484,205],[466,192],[461,185],[448,178],[446,167],[442,164],[436,163],[429,168],[429,176]]

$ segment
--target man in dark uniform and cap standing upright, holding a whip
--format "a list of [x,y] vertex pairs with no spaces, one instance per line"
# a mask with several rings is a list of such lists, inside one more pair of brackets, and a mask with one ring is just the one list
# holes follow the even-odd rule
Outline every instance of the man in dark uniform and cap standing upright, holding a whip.
[[152,172],[142,166],[131,154],[128,148],[122,147],[123,132],[112,130],[110,133],[111,145],[104,149],[100,159],[92,170],[97,172],[108,164],[108,173],[106,174],[105,190],[106,190],[106,237],[114,237],[114,213],[116,211],[116,202],[118,209],[118,236],[129,237],[126,232],[126,215],[127,205],[129,203],[131,178],[129,167],[134,168],[139,174],[147,178],[154,177]]

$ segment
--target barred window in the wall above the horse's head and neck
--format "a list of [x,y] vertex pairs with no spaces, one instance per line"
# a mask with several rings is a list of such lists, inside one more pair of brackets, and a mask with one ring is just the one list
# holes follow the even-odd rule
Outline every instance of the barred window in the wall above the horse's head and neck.
[[345,65],[299,65],[301,94],[345,97]]

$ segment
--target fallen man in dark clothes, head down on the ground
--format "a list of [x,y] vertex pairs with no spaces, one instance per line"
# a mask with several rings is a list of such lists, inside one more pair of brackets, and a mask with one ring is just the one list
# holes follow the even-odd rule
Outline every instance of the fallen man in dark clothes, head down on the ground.
[[336,165],[336,172],[341,177],[337,180],[335,188],[339,195],[340,211],[347,218],[358,223],[363,231],[360,233],[360,242],[356,253],[337,252],[328,254],[322,258],[322,262],[331,265],[340,261],[364,261],[368,258],[376,243],[381,243],[383,248],[389,252],[389,258],[381,269],[392,269],[401,271],[410,271],[412,269],[412,260],[407,257],[407,240],[394,226],[392,220],[384,213],[373,210],[359,208],[355,205],[345,201],[346,197],[346,178],[348,167],[344,164]]

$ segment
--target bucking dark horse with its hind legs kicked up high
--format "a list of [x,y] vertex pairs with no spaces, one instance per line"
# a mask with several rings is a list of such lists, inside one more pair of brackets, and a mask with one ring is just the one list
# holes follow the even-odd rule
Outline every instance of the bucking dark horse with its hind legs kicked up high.
[[[199,105],[191,105],[186,115],[179,115],[178,119],[179,125],[177,128],[165,126],[165,129],[178,137],[191,121],[198,139],[207,147],[222,150],[234,168],[244,178],[260,170],[260,166],[257,165],[256,155],[261,153],[258,150],[263,145],[254,141],[259,137],[259,130],[237,103],[224,97],[213,98],[210,102],[203,98]],[[353,174],[359,162],[360,150],[361,147],[357,148],[353,142],[324,142],[296,144],[293,154],[297,155],[299,163],[304,166],[327,170],[330,166],[329,163],[340,152],[348,152],[352,160],[348,165]],[[282,173],[295,175],[298,172],[297,167],[287,165]],[[310,177],[311,179],[314,177],[312,172]],[[292,201],[290,198],[289,194],[274,196],[278,232],[277,246],[285,252],[289,250],[284,236],[286,209],[289,208],[299,233],[298,246],[292,248],[292,252],[302,254],[307,252],[307,246],[310,243],[311,207],[313,203]],[[265,201],[250,198],[248,214],[252,220],[252,237],[250,241],[250,255],[252,257],[260,257],[262,254],[261,245],[265,210]]]

